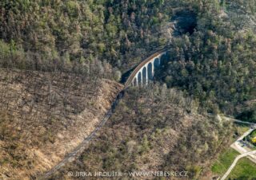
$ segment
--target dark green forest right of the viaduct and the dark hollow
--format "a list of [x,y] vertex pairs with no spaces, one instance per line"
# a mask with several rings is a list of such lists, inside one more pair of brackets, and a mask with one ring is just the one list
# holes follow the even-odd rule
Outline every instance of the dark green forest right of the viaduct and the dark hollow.
[[[158,79],[198,99],[208,112],[254,114],[253,104],[250,110],[237,108],[256,97],[256,11],[249,2],[253,3],[198,5],[194,33],[172,39],[169,59],[159,70]],[[238,26],[238,22],[243,23]],[[255,119],[253,116],[247,119]]]

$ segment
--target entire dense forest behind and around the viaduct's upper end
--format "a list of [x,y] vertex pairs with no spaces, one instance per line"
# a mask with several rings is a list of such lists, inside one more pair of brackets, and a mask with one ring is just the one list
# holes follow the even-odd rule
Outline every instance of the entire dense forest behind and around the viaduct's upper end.
[[102,75],[110,72],[104,77],[120,80],[168,45],[158,80],[198,98],[208,112],[239,115],[238,102],[256,96],[252,0],[4,0],[0,9],[2,67],[90,73],[93,62]]

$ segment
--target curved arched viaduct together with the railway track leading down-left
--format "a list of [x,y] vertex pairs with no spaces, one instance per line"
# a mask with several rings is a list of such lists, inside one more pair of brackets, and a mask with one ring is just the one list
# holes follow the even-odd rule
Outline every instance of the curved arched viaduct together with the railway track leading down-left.
[[[136,68],[134,68],[134,71],[130,74],[130,76],[126,80],[124,89],[128,88],[130,85],[137,86],[137,85],[147,84],[149,80],[153,79],[154,70],[161,65],[165,57],[166,57],[166,49],[162,49],[154,53],[150,57],[146,58],[146,60],[142,61]],[[104,126],[106,121],[114,113],[114,109],[118,105],[119,100],[122,99],[122,96],[123,96],[123,91],[118,93],[118,96],[112,103],[110,110],[106,113],[102,121],[98,123],[98,126],[94,129],[94,131],[90,135],[88,135],[82,141],[82,143],[80,143],[80,145],[74,149],[74,151],[71,151],[68,155],[66,155],[66,158],[63,158],[61,162],[58,162],[56,166],[52,167],[48,172],[46,172],[46,174],[42,174],[42,176],[38,177],[38,179],[39,180],[46,179],[46,178],[48,179],[50,175],[54,174],[62,166],[65,166],[66,163],[72,162],[74,161],[74,159],[78,158],[78,156],[81,155],[82,152],[86,150],[86,147],[88,146],[90,141],[94,138],[96,133],[98,133],[98,131]]]

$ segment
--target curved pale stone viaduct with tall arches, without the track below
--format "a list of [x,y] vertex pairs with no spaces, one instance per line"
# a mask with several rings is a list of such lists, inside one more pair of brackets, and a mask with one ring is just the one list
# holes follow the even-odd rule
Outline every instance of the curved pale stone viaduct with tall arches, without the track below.
[[130,74],[126,80],[125,88],[148,84],[149,80],[153,80],[154,71],[158,68],[162,61],[166,58],[166,49],[159,50],[146,60],[142,61]]

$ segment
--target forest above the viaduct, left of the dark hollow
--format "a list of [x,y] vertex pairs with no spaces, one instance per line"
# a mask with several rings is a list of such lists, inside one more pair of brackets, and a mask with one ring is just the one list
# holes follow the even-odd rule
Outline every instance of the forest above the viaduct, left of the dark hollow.
[[99,59],[127,70],[140,61],[131,61],[134,57],[166,45],[167,40],[159,37],[163,22],[169,20],[162,13],[163,3],[3,0],[0,37],[8,44],[1,42],[2,61],[29,68],[22,63],[25,58],[40,65]]

